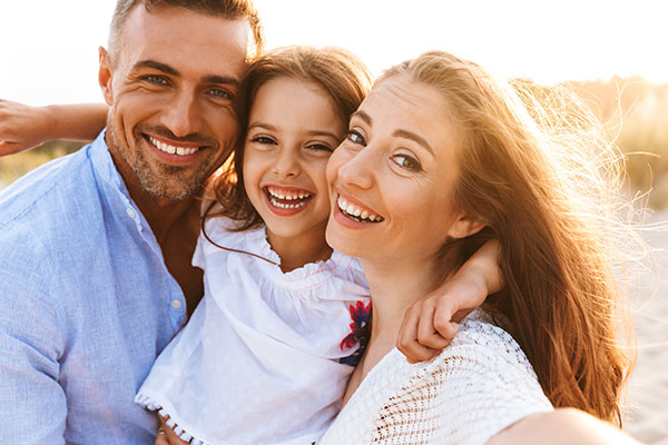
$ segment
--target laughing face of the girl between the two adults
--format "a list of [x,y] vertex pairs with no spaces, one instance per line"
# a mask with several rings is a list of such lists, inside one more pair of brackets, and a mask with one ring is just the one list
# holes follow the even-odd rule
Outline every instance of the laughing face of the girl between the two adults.
[[279,238],[325,245],[325,169],[344,136],[345,122],[320,86],[278,78],[258,89],[244,146],[244,187],[273,245]]

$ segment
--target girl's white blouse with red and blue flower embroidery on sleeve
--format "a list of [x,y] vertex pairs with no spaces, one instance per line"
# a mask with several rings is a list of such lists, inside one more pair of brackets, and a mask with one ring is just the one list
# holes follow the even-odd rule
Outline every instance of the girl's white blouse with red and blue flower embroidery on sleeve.
[[[264,228],[233,233],[214,218],[218,245],[275,263]],[[284,274],[278,266],[220,249],[199,236],[193,264],[205,296],[157,358],[136,402],[160,409],[195,444],[311,444],[338,412],[367,320],[360,264],[327,261]],[[357,354],[355,354],[357,353]]]

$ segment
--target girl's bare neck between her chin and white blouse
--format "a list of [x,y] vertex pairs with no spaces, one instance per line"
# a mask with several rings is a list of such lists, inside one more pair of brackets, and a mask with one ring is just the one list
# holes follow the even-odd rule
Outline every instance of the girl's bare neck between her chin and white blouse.
[[332,256],[332,248],[325,241],[325,222],[322,227],[293,237],[281,237],[267,227],[267,241],[281,258],[284,273],[297,269],[308,263],[325,261]]

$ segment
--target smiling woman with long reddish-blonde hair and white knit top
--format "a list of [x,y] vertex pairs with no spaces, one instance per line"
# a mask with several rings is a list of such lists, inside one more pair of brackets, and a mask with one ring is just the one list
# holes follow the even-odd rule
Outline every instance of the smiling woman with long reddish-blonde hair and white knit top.
[[[323,445],[484,443],[518,421],[495,439],[578,429],[578,414],[539,414],[551,405],[620,419],[629,362],[616,342],[610,231],[583,194],[600,207],[607,184],[581,154],[551,144],[511,91],[449,53],[376,81],[327,167],[327,241],[360,258],[373,322]],[[393,349],[404,312],[489,237],[505,289],[441,355],[406,364]]]

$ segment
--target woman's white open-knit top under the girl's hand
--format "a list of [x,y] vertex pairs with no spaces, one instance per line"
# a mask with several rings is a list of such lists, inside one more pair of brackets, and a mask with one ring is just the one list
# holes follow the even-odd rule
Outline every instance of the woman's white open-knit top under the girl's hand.
[[411,365],[391,350],[318,445],[483,444],[551,409],[519,345],[478,309],[430,362]]

